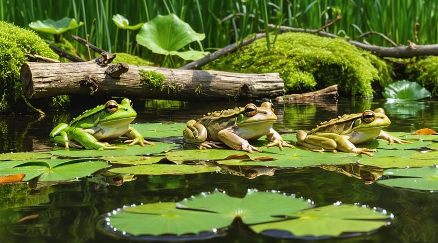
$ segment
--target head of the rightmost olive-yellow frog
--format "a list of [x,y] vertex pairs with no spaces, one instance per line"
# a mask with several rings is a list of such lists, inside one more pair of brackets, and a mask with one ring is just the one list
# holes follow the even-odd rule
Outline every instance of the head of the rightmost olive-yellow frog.
[[353,131],[365,132],[368,130],[381,130],[391,124],[389,118],[385,115],[383,108],[377,108],[374,111],[365,110],[361,118],[354,121]]

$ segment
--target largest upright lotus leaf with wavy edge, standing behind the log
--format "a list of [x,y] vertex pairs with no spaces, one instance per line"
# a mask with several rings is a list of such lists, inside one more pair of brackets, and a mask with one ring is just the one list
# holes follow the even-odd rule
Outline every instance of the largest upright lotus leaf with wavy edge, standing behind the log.
[[204,34],[196,33],[189,24],[174,14],[158,15],[146,22],[136,36],[138,44],[145,46],[154,53],[178,55],[184,60],[197,60],[208,52],[186,51],[178,52],[193,41],[201,41]]

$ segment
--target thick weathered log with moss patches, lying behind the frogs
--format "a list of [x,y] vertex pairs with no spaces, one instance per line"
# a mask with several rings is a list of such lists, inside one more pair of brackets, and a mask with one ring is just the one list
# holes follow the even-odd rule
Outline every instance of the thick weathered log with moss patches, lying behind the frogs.
[[[108,74],[109,67],[112,65],[101,67],[95,62],[27,62],[20,70],[21,83],[29,99],[94,94],[204,101],[275,98],[284,94],[284,83],[278,73],[233,73],[125,64],[128,70],[117,77]],[[142,76],[140,70],[157,75]]]

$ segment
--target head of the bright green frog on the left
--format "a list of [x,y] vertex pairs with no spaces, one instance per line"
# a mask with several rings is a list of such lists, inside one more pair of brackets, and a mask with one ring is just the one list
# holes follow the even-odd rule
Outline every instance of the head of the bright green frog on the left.
[[120,104],[113,100],[108,101],[99,116],[101,124],[122,125],[134,121],[137,112],[132,108],[132,101],[125,98]]

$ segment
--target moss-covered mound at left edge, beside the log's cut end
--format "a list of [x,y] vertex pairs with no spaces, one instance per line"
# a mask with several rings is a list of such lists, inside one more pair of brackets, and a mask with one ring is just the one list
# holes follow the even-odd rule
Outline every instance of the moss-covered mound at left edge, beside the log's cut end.
[[0,21],[0,113],[22,97],[20,68],[28,53],[57,58],[35,32]]

